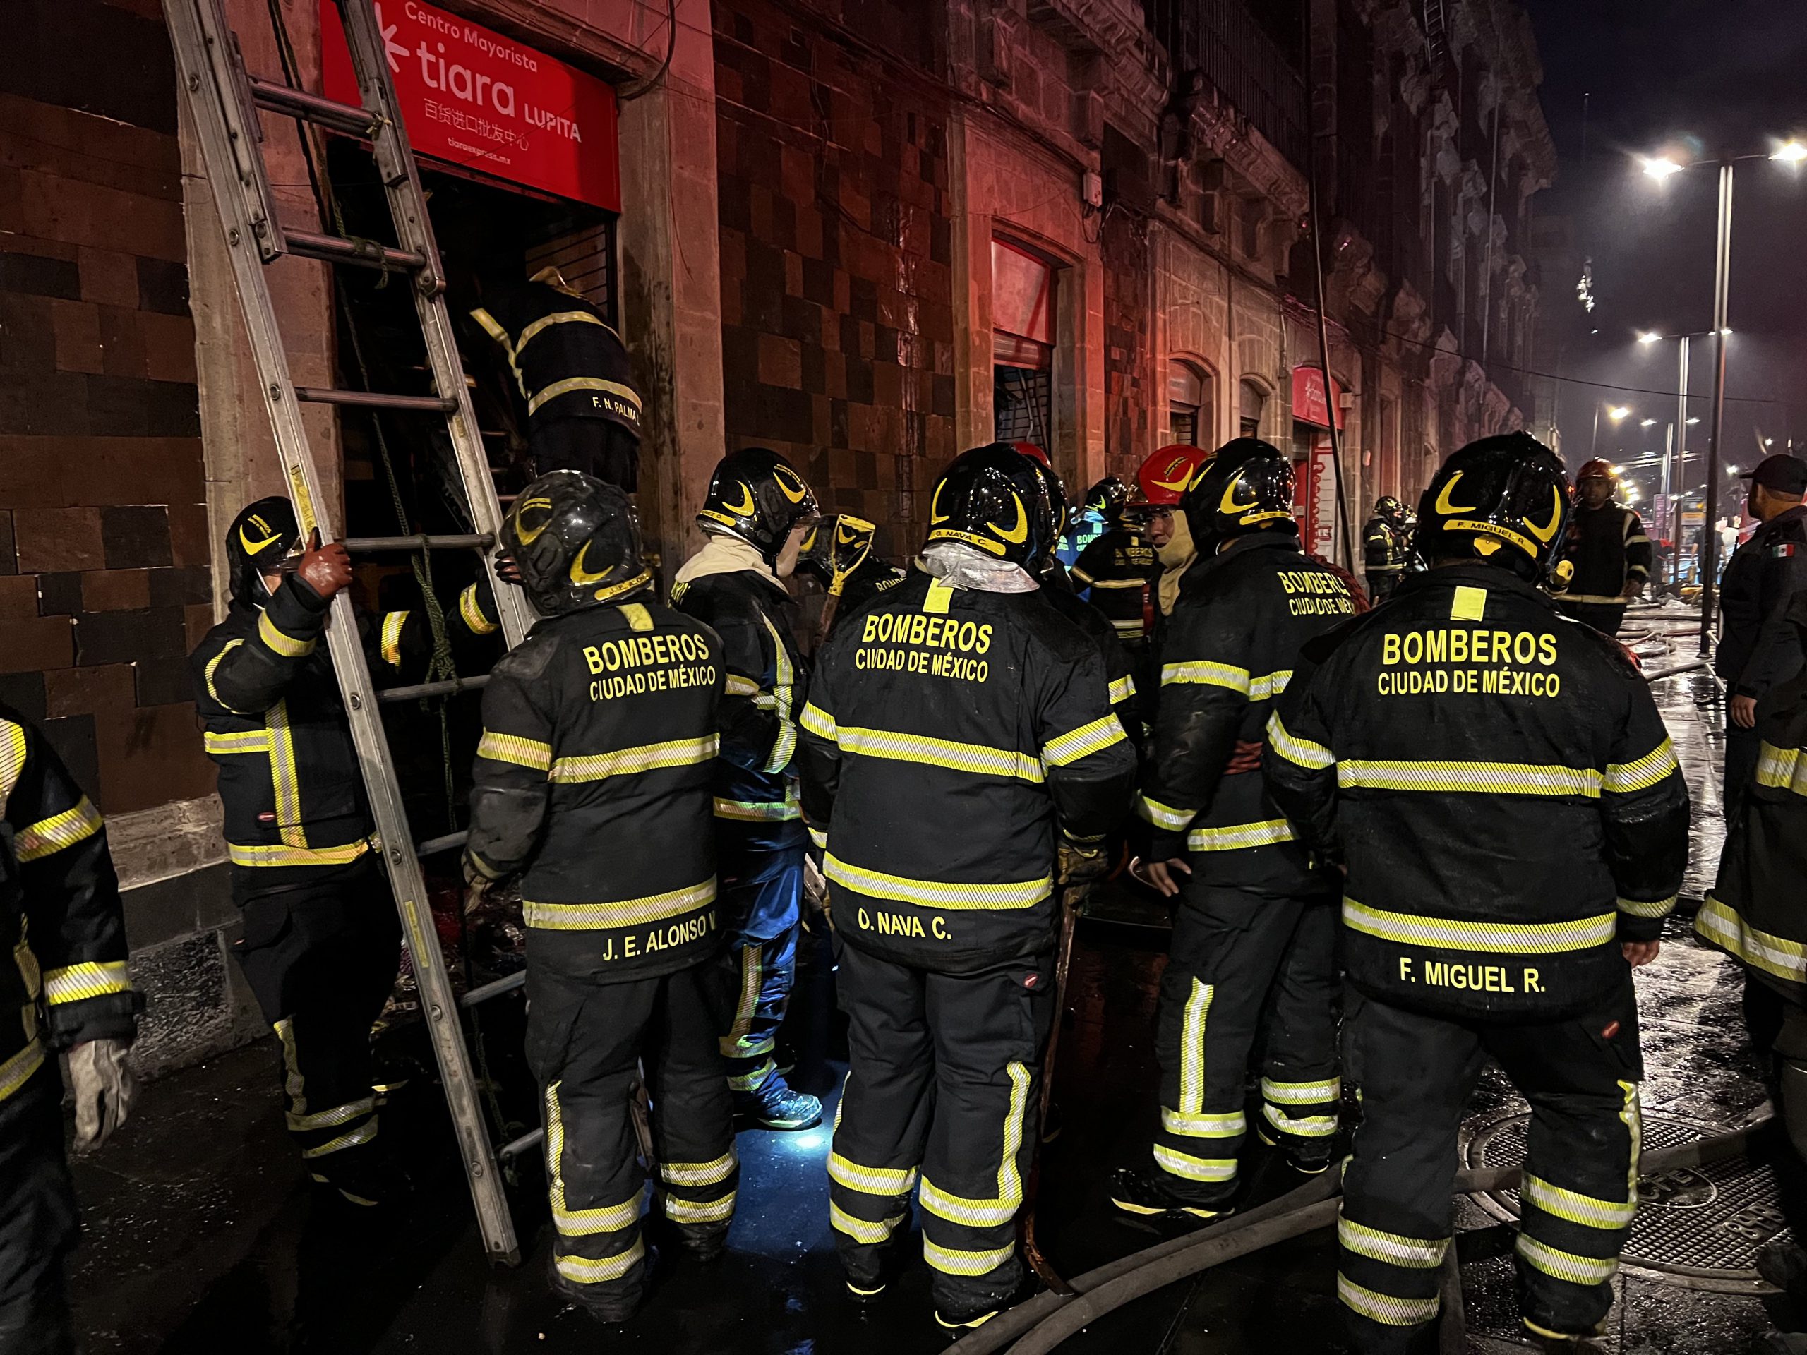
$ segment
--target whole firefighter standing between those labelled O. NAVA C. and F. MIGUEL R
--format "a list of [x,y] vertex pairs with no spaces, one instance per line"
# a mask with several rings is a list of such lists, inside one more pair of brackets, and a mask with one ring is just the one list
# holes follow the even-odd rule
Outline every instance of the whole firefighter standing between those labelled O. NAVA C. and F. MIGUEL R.
[[1137,813],[1147,876],[1178,898],[1160,981],[1160,1133],[1111,1203],[1149,1223],[1227,1214],[1247,1131],[1243,1086],[1267,1030],[1258,1133],[1305,1173],[1337,1133],[1335,885],[1261,786],[1261,741],[1299,647],[1355,612],[1299,549],[1292,461],[1238,437],[1182,500],[1198,546],[1169,620],[1160,714]]

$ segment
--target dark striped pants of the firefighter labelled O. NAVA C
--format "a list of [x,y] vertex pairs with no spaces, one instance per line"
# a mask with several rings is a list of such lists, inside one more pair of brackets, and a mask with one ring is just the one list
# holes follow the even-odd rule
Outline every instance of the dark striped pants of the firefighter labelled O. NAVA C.
[[918,1187],[934,1306],[996,1308],[1023,1279],[1016,1214],[1053,1026],[1053,952],[979,974],[896,965],[837,939],[847,1082],[828,1158],[847,1281],[878,1288]]

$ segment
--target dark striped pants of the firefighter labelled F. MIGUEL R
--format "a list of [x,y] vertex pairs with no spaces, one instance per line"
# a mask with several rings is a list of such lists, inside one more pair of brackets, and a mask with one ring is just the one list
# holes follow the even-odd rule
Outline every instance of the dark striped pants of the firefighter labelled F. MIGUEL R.
[[1352,1348],[1408,1351],[1437,1317],[1456,1131],[1487,1057],[1531,1102],[1520,1315],[1538,1335],[1597,1332],[1637,1212],[1643,1057],[1630,974],[1585,1014],[1540,1024],[1456,1021],[1352,994],[1344,1039],[1362,1091],[1337,1221],[1337,1297]]

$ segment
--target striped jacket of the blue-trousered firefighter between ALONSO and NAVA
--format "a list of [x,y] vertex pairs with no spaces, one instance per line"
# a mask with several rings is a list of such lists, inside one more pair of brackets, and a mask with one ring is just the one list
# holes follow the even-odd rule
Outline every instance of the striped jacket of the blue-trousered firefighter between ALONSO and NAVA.
[[672,605],[721,636],[728,688],[716,762],[716,818],[743,826],[754,847],[804,840],[797,802],[797,715],[810,672],[791,627],[793,603],[777,580],[737,569],[672,587]]

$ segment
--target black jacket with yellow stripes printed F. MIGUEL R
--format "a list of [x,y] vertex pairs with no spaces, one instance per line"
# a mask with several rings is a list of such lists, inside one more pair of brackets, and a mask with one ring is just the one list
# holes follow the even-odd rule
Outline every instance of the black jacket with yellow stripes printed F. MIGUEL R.
[[1624,977],[1688,862],[1688,786],[1635,661],[1482,562],[1408,575],[1305,645],[1269,724],[1269,793],[1348,865],[1362,992],[1554,1019]]

